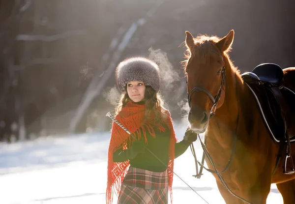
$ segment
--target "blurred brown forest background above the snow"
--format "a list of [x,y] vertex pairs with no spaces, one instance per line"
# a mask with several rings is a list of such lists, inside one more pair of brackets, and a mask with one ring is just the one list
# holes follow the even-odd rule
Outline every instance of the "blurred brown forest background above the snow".
[[0,0],[0,142],[108,131],[126,57],[154,59],[175,120],[185,112],[185,30],[223,37],[241,72],[295,66],[295,1]]

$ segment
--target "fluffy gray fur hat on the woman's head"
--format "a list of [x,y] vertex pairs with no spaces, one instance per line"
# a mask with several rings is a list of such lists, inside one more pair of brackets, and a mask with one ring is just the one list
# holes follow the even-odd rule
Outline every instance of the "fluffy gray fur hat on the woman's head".
[[116,68],[116,81],[121,91],[125,90],[127,83],[140,81],[151,86],[155,91],[160,88],[160,69],[150,59],[143,57],[127,58],[120,62]]

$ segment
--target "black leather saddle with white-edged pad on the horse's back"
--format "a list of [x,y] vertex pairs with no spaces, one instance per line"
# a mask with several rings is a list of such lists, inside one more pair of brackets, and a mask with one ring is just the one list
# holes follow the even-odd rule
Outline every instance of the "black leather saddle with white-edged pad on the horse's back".
[[241,75],[256,98],[260,114],[273,140],[279,143],[295,136],[286,136],[286,113],[295,113],[292,103],[295,102],[295,93],[284,85],[283,69],[274,63],[264,63],[256,66],[252,72]]

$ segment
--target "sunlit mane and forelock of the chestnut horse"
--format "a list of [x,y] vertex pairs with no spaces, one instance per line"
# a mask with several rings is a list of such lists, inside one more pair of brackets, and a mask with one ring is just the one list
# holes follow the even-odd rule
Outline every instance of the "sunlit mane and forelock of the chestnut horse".
[[[182,69],[184,71],[184,73],[186,73],[186,66],[188,63],[189,58],[192,55],[196,55],[196,54],[201,54],[200,56],[208,56],[208,53],[211,52],[211,50],[213,50],[213,48],[215,47],[214,43],[218,42],[221,38],[217,37],[217,36],[208,36],[208,35],[199,35],[197,37],[194,38],[194,48],[193,48],[193,53],[191,53],[190,49],[187,47],[186,51],[184,52],[184,58],[185,60],[181,61],[180,63],[182,64]],[[185,42],[183,42],[185,45]],[[224,55],[227,58],[233,72],[236,73],[237,76],[240,75],[240,71],[237,69],[237,67],[234,65],[233,61],[230,59],[229,57],[229,52],[231,52],[232,47],[229,47],[229,49],[227,49],[226,51],[224,51]]]

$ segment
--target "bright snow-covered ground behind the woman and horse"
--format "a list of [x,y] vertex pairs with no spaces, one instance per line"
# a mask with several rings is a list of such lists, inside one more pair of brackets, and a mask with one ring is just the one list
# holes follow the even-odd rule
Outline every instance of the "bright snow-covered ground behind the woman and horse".
[[[186,127],[175,127],[181,140]],[[104,204],[109,138],[103,132],[1,144],[0,204]],[[201,158],[199,141],[195,148]],[[192,177],[195,164],[189,148],[176,159],[175,173],[209,204],[225,204],[212,175]],[[173,190],[175,204],[206,204],[177,176]],[[282,203],[272,185],[267,204]]]

